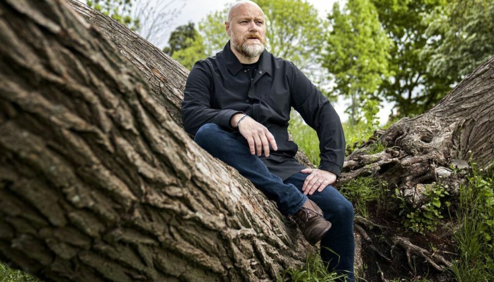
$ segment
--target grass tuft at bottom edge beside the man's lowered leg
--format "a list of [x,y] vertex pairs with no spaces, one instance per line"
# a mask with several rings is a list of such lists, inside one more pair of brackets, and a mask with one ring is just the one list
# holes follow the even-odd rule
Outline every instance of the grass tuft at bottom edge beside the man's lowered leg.
[[277,281],[292,282],[330,282],[341,281],[346,275],[338,275],[327,270],[319,254],[308,254],[305,266],[299,269],[288,269],[278,277]]

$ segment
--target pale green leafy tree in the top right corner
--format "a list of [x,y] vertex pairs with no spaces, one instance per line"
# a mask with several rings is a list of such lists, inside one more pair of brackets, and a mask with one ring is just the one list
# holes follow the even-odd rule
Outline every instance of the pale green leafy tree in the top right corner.
[[494,54],[494,1],[454,0],[431,18],[427,35],[444,34],[423,52],[434,75],[459,82]]

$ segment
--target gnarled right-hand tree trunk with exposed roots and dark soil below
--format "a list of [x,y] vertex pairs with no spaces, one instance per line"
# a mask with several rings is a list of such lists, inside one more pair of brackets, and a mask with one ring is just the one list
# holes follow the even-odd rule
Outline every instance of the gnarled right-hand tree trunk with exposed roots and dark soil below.
[[[386,149],[369,154],[377,142]],[[494,160],[494,57],[430,111],[376,132],[345,159],[340,185],[356,177],[387,183],[387,192],[383,192],[386,207],[356,221],[356,231],[364,240],[365,278],[385,281],[427,275],[432,280],[451,279],[444,270],[457,258],[451,252],[455,251],[455,220],[445,220],[447,227],[433,234],[411,233],[397,224],[402,220],[397,216],[401,208],[392,195],[397,188],[400,197],[419,210],[429,200],[425,194],[428,187],[441,183],[449,193],[454,216],[470,158],[481,168],[491,166]]]

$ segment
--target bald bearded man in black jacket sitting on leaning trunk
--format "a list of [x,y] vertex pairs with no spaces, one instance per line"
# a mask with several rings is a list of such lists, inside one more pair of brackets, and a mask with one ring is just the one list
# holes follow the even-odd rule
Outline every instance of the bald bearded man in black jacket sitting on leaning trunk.
[[[264,13],[254,2],[230,8],[230,41],[215,57],[198,61],[187,79],[185,130],[294,218],[309,243],[321,241],[330,270],[354,281],[354,210],[330,185],[344,158],[340,119],[296,66],[264,49],[264,28]],[[317,131],[319,169],[304,168],[294,158],[298,147],[287,131],[291,107]]]

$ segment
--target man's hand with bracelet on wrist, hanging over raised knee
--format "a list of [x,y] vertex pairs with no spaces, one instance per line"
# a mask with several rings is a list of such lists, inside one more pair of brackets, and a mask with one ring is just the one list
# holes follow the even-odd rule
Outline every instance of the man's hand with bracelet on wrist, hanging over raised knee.
[[[243,116],[244,114],[234,115],[231,120],[232,127],[235,128],[238,120]],[[264,155],[269,156],[269,144],[271,144],[273,150],[278,150],[273,134],[271,134],[266,127],[249,116],[242,119],[238,125],[238,131],[247,140],[247,143],[249,143],[249,149],[253,155],[257,154],[258,156],[261,156],[262,149],[264,149]]]

